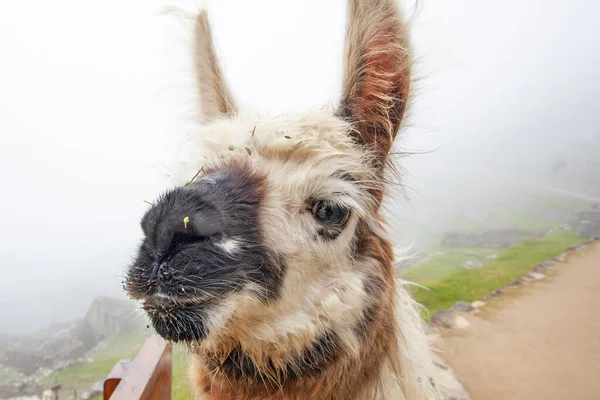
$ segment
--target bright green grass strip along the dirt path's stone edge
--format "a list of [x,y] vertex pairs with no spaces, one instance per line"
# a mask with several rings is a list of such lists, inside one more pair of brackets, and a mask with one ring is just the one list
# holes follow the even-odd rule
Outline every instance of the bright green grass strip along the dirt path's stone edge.
[[574,232],[562,230],[541,239],[526,239],[501,252],[483,268],[459,269],[437,281],[416,281],[427,288],[416,288],[415,299],[426,307],[429,315],[450,308],[460,300],[480,299],[579,242],[581,238]]

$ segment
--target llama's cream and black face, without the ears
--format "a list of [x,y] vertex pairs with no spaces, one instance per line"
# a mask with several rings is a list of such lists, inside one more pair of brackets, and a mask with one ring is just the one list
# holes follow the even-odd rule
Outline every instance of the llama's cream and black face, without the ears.
[[325,313],[360,317],[368,271],[355,267],[357,226],[373,219],[375,183],[349,133],[321,110],[219,121],[186,144],[212,161],[144,216],[127,280],[161,335],[205,339],[249,319],[259,332],[293,315],[311,321],[313,336]]

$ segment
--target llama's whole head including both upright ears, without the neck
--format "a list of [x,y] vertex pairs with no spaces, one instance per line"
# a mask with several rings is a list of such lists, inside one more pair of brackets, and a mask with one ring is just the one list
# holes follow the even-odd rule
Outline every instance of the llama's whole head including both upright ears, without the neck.
[[185,161],[198,173],[143,217],[126,291],[169,340],[241,345],[255,361],[323,340],[356,349],[394,285],[379,208],[410,86],[395,2],[349,2],[335,110],[244,116],[204,13],[195,50],[203,123]]

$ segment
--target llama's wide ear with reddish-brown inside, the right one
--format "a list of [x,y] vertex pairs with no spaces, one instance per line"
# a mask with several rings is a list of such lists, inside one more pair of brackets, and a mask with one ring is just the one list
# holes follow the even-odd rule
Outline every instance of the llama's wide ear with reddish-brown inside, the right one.
[[408,34],[394,0],[350,0],[339,114],[383,165],[410,89]]

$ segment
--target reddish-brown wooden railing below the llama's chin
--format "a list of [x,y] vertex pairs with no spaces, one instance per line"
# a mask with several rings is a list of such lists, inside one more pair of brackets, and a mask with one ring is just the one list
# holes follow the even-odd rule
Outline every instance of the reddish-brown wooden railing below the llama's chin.
[[146,340],[133,360],[121,360],[104,381],[104,400],[171,400],[171,345]]

